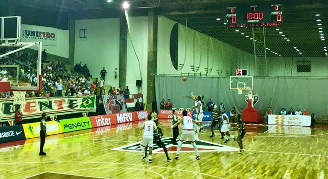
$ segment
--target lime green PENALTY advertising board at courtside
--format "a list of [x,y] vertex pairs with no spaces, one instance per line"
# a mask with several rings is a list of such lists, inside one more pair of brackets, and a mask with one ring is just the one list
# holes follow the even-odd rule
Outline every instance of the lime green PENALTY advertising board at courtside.
[[60,124],[62,125],[63,132],[71,132],[71,131],[92,128],[90,119],[88,117],[63,119],[63,120],[60,120]]

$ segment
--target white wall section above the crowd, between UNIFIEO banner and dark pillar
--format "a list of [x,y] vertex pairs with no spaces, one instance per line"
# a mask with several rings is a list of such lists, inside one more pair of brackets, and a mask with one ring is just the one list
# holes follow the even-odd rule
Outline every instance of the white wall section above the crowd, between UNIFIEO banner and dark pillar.
[[[87,30],[87,40],[80,39],[80,29]],[[100,70],[107,71],[106,85],[118,88],[120,19],[84,19],[75,21],[74,65],[87,64],[92,78],[100,79]],[[117,68],[117,70],[115,70]],[[117,78],[114,78],[117,71]]]

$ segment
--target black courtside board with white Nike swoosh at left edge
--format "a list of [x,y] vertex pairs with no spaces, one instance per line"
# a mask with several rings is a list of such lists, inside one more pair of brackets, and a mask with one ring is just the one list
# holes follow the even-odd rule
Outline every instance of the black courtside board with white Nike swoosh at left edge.
[[0,143],[23,139],[25,135],[21,125],[0,127]]

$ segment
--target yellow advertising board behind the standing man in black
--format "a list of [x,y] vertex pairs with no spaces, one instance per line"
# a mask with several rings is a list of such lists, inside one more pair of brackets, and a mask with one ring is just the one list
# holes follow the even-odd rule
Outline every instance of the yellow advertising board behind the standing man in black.
[[[47,127],[47,135],[63,133],[62,126],[58,121],[47,121],[46,127]],[[40,137],[40,130],[41,130],[40,122],[23,124],[23,129],[26,139]]]

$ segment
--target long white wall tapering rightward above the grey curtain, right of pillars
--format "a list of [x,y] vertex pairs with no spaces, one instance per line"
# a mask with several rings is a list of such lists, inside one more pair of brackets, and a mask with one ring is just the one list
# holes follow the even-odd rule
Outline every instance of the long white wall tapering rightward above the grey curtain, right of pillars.
[[[170,60],[170,33],[176,22],[159,16],[158,24],[158,74],[181,75],[181,73],[206,74],[205,68],[212,69],[209,76],[234,75],[238,68],[254,72],[254,56],[227,43],[178,25],[178,64],[184,64],[175,70]],[[199,67],[193,71],[190,66]],[[219,74],[217,73],[219,72]]]

